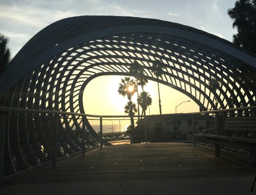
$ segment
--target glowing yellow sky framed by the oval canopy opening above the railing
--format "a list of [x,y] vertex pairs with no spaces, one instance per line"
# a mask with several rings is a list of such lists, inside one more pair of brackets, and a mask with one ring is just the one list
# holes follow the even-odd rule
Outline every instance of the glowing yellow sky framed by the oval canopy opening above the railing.
[[[100,76],[88,83],[84,90],[85,113],[95,115],[126,115],[124,113],[124,105],[128,102],[128,99],[117,92],[118,83],[121,82],[121,78],[124,78],[124,76]],[[199,106],[186,95],[163,84],[159,84],[159,87],[162,114],[175,113],[175,106],[188,100],[190,102],[185,102],[177,107],[177,113],[199,112]],[[149,92],[152,98],[150,115],[159,114],[157,83],[148,81],[144,90]],[[139,88],[139,93],[140,91],[142,91],[141,88]],[[134,94],[132,101],[136,103],[136,99],[137,94]],[[149,109],[146,111],[146,114],[149,114]]]

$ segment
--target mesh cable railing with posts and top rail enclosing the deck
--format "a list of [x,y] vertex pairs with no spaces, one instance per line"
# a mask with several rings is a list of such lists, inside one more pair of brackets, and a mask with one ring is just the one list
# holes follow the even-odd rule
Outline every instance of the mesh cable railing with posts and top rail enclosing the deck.
[[[227,118],[255,117],[256,106],[194,113],[104,116],[0,106],[1,177],[7,178],[68,156],[116,142],[194,141],[205,134],[230,136]],[[234,132],[233,132],[234,133]],[[196,136],[201,134],[202,137]],[[232,136],[232,135],[231,135]],[[241,136],[235,133],[234,136]],[[255,139],[255,133],[242,136]],[[199,139],[200,138],[200,139]],[[207,144],[207,142],[205,141]]]

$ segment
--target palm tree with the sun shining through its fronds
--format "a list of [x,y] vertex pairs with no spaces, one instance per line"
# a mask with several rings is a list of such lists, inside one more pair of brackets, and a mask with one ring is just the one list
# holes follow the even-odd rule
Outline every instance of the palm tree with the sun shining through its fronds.
[[[124,79],[121,79],[121,83],[118,83],[119,84],[119,88],[118,88],[118,93],[122,96],[127,96],[128,100],[129,100],[129,105],[132,106],[132,96],[133,94],[137,91],[137,85],[136,85],[136,82],[131,79],[130,77],[127,77],[125,76]],[[135,106],[136,108],[136,106]],[[132,109],[132,107],[131,107]],[[134,110],[134,109],[133,109]],[[135,111],[135,110],[134,110]],[[136,112],[137,112],[137,109],[136,109]],[[134,120],[133,120],[133,116],[134,114],[132,110],[130,110],[129,112],[125,112],[125,113],[129,113],[129,116],[131,116],[131,126],[132,126],[132,129],[134,129]]]

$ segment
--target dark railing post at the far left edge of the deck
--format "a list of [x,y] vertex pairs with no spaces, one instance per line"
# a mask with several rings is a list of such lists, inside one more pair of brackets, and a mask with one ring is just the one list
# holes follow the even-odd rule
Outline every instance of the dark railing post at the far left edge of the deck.
[[5,113],[0,112],[0,188],[2,186],[4,169],[4,137],[5,137]]

